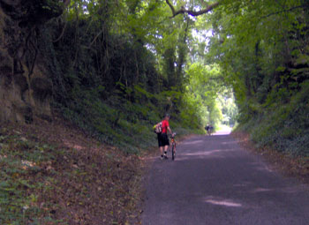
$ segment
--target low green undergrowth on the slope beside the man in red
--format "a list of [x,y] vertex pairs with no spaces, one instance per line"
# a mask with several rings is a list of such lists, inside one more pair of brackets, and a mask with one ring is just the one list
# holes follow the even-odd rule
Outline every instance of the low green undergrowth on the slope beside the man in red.
[[[147,93],[143,90],[143,94],[145,92]],[[153,97],[155,102],[160,100],[160,97]],[[96,139],[117,146],[125,154],[139,154],[141,150],[156,145],[153,126],[162,120],[164,101],[156,107],[150,100],[133,103],[124,99],[112,96],[102,101],[94,89],[83,92],[79,90],[79,95],[68,106],[54,103],[54,107],[72,124],[78,125]],[[179,135],[203,132],[196,124],[192,127],[183,126],[182,116],[172,113],[172,131]]]

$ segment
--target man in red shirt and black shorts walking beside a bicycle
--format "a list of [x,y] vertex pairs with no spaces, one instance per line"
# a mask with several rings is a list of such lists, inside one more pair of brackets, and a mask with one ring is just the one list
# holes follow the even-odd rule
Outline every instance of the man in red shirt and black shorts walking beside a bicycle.
[[[164,116],[164,119],[162,120],[162,132],[158,134],[158,144],[159,144],[159,149],[161,152],[161,159],[168,159],[167,151],[170,146],[170,140],[168,137],[168,131],[170,132],[171,135],[173,135],[172,131],[170,130],[170,115],[166,114]],[[164,154],[163,154],[164,150]]]

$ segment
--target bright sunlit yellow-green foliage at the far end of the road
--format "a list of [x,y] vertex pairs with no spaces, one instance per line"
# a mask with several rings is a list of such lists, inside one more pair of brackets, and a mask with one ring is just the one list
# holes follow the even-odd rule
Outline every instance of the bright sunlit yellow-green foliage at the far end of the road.
[[[213,124],[218,128],[222,124],[223,117],[227,124],[235,124],[237,107],[233,104],[233,98],[228,96],[230,91],[224,87],[219,66],[194,63],[186,73],[189,76],[186,86],[188,93],[184,96],[185,108],[181,112],[182,120],[186,124],[192,124],[193,127]],[[225,104],[223,98],[227,102],[230,100],[230,105]]]

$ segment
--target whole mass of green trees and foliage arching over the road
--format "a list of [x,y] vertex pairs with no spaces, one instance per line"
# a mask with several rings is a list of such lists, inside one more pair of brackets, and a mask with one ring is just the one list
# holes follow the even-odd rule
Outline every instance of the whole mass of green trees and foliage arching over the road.
[[[7,1],[1,5],[12,15]],[[105,141],[132,138],[139,121],[147,127],[168,111],[188,129],[237,119],[260,145],[285,149],[307,132],[308,7],[305,0],[46,1],[27,12],[46,16],[25,41],[39,47],[23,56],[31,74],[43,52],[54,107]]]

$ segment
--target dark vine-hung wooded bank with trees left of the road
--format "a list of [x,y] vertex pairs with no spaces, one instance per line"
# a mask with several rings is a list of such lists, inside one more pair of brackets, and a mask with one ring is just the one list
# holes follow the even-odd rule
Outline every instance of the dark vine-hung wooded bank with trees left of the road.
[[[53,80],[54,106],[128,154],[155,145],[151,128],[166,112],[175,126],[198,128],[193,103],[183,99],[192,21],[171,21],[169,13],[157,1],[72,1],[64,34],[53,44],[62,71]],[[180,116],[187,108],[188,115],[182,115],[190,122]]]

